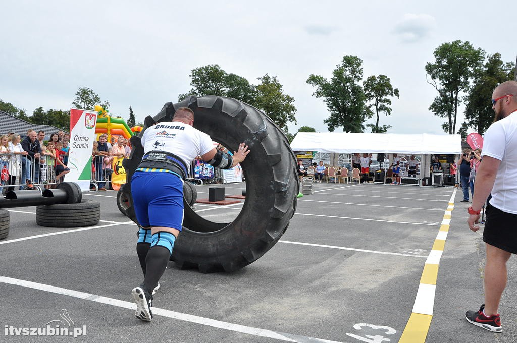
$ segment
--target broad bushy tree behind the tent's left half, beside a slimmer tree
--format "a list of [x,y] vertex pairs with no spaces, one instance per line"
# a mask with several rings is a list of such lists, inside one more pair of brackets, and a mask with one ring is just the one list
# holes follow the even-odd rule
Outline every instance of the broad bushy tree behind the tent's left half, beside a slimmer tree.
[[372,116],[365,106],[366,96],[359,82],[362,79],[362,59],[357,56],[344,56],[340,65],[332,72],[329,80],[311,74],[307,83],[316,86],[312,94],[324,98],[330,117],[323,122],[329,131],[342,126],[344,132],[363,132],[364,121]]

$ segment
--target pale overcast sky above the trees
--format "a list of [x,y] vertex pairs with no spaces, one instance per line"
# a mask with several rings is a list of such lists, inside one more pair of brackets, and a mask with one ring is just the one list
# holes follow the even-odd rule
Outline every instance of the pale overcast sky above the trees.
[[218,64],[254,84],[276,75],[298,110],[290,132],[326,132],[329,113],[306,80],[330,77],[343,56],[355,55],[364,79],[385,74],[400,90],[392,115],[381,117],[389,132],[443,133],[444,120],[428,110],[436,90],[424,66],[433,51],[460,39],[504,61],[517,54],[514,11],[478,0],[249,3],[3,2],[0,99],[28,113],[67,110],[78,88],[89,87],[111,114],[127,119],[132,106],[143,121],[190,89],[193,68]]

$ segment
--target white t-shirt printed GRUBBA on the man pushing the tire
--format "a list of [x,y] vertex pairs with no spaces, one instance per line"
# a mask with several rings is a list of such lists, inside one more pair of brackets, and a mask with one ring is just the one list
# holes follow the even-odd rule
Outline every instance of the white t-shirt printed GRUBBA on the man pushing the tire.
[[147,128],[142,146],[144,153],[153,150],[173,153],[189,168],[198,155],[215,148],[209,135],[181,121],[162,121]]

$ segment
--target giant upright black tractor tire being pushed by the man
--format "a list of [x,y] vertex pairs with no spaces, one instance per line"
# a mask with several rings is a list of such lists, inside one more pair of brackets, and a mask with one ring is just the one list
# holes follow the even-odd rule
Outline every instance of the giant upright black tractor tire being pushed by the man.
[[[188,97],[177,104],[166,103],[160,113],[145,119],[138,136],[131,137],[133,149],[124,161],[128,182],[121,188],[128,197],[131,176],[143,156],[140,137],[154,123],[171,121],[179,107],[191,108],[194,127],[213,141],[231,151],[245,142],[250,153],[241,163],[247,193],[239,215],[231,223],[214,223],[185,204],[183,230],[171,260],[180,269],[199,268],[202,273],[238,270],[264,255],[287,229],[299,192],[296,157],[285,135],[256,108],[231,98]],[[132,206],[126,213],[136,222]]]

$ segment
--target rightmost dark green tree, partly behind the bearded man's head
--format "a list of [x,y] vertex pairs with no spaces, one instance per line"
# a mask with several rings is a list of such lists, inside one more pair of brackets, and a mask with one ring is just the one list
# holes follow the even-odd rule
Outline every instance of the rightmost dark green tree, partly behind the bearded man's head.
[[495,53],[488,56],[483,68],[476,73],[473,86],[464,97],[465,122],[459,133],[465,134],[468,128],[474,128],[483,134],[492,123],[492,92],[498,84],[511,80],[515,71],[513,62],[504,63],[501,55]]

